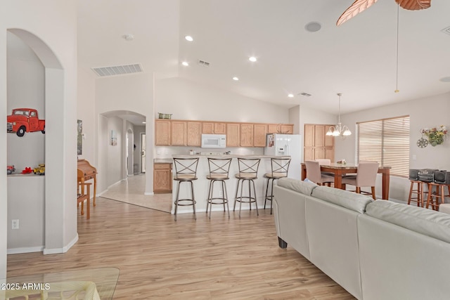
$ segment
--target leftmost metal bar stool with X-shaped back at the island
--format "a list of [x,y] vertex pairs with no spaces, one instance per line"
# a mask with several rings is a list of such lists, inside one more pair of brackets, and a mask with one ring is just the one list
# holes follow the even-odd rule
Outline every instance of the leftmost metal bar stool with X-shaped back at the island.
[[[174,167],[175,167],[174,181],[178,181],[178,184],[176,186],[176,198],[174,202],[175,221],[178,207],[190,205],[193,206],[194,219],[197,220],[197,214],[195,214],[195,197],[193,185],[193,181],[197,180],[197,166],[198,166],[198,157],[174,158]],[[184,199],[179,198],[181,183],[191,183],[191,198],[184,198]]]

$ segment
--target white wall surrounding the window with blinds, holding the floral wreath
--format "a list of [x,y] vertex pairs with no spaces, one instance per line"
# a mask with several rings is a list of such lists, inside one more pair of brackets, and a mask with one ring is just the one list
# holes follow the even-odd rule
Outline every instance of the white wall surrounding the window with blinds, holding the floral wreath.
[[[349,126],[353,133],[356,132],[356,122],[364,122],[388,117],[410,116],[411,140],[410,140],[410,168],[411,169],[446,169],[450,170],[450,141],[444,141],[442,145],[426,148],[418,148],[416,142],[421,137],[420,129],[446,125],[450,127],[450,93],[420,98],[407,102],[376,107],[371,110],[363,110],[352,114],[341,115],[341,122]],[[345,158],[347,162],[354,162],[356,156],[356,135],[352,134],[346,140],[336,140],[335,157]],[[414,159],[414,156],[416,159]],[[380,183],[377,182],[377,194],[380,195]],[[391,176],[390,198],[407,200],[409,193],[408,178]]]

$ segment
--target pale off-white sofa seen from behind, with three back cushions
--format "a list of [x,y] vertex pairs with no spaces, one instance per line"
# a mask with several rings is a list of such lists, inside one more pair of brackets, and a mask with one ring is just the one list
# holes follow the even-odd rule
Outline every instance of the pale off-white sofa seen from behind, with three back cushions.
[[450,215],[292,178],[274,196],[280,247],[356,299],[450,299]]

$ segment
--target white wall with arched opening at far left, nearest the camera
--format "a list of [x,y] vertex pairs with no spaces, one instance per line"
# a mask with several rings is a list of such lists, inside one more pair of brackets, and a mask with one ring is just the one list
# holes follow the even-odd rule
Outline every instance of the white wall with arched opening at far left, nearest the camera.
[[[77,9],[76,1],[0,2],[0,115],[6,122],[6,30],[20,32],[46,67],[46,249],[65,252],[77,240]],[[51,8],[51,9],[49,9]],[[42,18],[43,15],[49,18]],[[6,132],[0,133],[6,141]],[[0,146],[6,167],[6,143]],[[0,278],[6,274],[6,174],[0,175]],[[63,201],[61,201],[63,200]],[[50,209],[51,207],[51,209]]]

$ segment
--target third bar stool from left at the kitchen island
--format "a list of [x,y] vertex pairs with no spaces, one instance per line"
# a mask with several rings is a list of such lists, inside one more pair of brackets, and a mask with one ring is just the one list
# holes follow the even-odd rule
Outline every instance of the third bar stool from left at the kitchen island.
[[[255,202],[256,214],[259,216],[258,204],[256,202],[256,188],[255,179],[258,178],[258,167],[261,159],[259,158],[240,158],[238,157],[239,173],[236,174],[238,178],[238,185],[236,185],[236,195],[234,197],[233,211],[236,210],[236,202],[239,202],[239,217],[242,203],[250,204],[250,210],[252,210],[252,202]],[[243,196],[244,183],[248,183],[248,196]],[[240,185],[240,196],[238,197],[238,190]],[[253,196],[251,185],[253,185]]]

